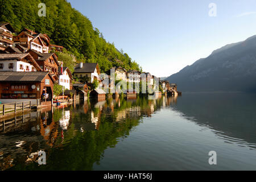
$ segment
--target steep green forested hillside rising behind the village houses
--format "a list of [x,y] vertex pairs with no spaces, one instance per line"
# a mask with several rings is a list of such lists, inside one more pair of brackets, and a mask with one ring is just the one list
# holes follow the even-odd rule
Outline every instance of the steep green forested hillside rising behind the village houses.
[[[42,8],[39,3],[45,3],[46,17],[38,15]],[[101,72],[119,66],[141,71],[127,53],[118,51],[114,43],[106,42],[92,22],[66,0],[0,0],[1,22],[9,22],[16,32],[25,27],[47,34],[52,44],[67,49],[65,57],[74,55],[78,62],[98,63]],[[72,65],[70,61],[65,66],[69,65]]]

